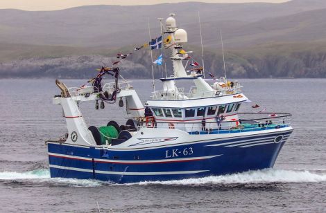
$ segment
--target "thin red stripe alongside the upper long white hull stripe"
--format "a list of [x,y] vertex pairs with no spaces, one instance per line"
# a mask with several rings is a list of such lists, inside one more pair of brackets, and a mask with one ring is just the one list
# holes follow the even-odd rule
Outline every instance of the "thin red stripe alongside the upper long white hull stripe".
[[[56,156],[53,154],[49,154],[49,156],[51,157],[55,157],[55,158],[65,158],[65,159],[71,159],[71,160],[83,160],[83,161],[89,161],[92,162],[92,159],[85,159],[85,158],[74,158],[74,157],[68,157],[68,156]],[[110,160],[94,160],[94,162],[96,163],[114,163],[114,164],[154,164],[154,163],[180,163],[180,162],[189,162],[189,161],[196,161],[196,160],[205,160],[207,158],[193,158],[193,159],[185,159],[185,160],[166,160],[166,161],[148,161],[148,162],[128,162],[128,160],[126,160],[127,162],[121,162],[121,161],[110,161]],[[139,160],[141,161],[141,160]]]

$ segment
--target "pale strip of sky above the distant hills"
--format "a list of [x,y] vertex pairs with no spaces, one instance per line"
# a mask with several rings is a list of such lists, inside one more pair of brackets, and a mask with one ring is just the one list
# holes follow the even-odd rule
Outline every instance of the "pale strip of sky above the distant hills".
[[[87,5],[148,5],[156,3],[176,3],[191,0],[0,0],[0,9],[14,8],[19,10],[60,10]],[[194,1],[194,0],[192,0]],[[245,3],[271,2],[281,3],[287,0],[195,0],[210,3]]]

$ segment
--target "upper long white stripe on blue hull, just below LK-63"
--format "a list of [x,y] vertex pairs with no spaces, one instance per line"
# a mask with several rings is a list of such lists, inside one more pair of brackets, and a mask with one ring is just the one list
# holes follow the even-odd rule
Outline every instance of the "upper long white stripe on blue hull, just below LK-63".
[[[79,156],[69,156],[64,154],[55,154],[49,152],[49,156],[58,157],[58,158],[68,158],[72,160],[85,160],[85,161],[92,161],[92,158],[85,158]],[[116,163],[116,164],[150,164],[150,163],[178,163],[178,162],[187,162],[187,161],[194,161],[194,160],[204,160],[209,158],[215,158],[220,155],[216,156],[202,156],[202,157],[194,157],[194,158],[172,158],[172,159],[162,159],[162,160],[105,160],[94,158],[94,162],[97,163]]]

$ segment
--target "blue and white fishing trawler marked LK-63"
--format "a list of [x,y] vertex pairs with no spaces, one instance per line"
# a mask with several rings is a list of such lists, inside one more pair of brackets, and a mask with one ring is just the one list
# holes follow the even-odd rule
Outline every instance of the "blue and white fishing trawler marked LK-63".
[[[176,26],[174,15],[163,29],[173,75],[161,78],[162,91],[153,91],[144,104],[131,82],[119,82],[117,66],[102,67],[92,86],[69,88],[56,81],[61,94],[53,104],[61,105],[68,133],[46,141],[52,178],[135,183],[273,167],[293,131],[291,114],[239,113],[248,102],[241,84],[225,77],[209,84],[203,68],[186,71],[187,32]],[[101,83],[106,73],[114,82]],[[176,86],[179,80],[194,83],[189,93]],[[117,100],[126,107],[125,124],[111,120],[105,127],[87,126],[79,104],[95,102],[98,109]]]

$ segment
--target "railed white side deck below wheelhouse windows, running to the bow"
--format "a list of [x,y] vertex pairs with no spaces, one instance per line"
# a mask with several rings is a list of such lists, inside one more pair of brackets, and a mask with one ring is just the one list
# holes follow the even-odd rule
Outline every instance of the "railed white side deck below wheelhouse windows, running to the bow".
[[[182,131],[187,131],[190,134],[216,134],[280,129],[291,125],[291,114],[289,113],[238,113],[238,115],[252,115],[257,118],[205,123],[200,120],[198,120],[198,122],[155,122],[155,120],[147,119],[139,122],[137,129],[180,129]],[[258,118],[259,115],[262,118]]]

